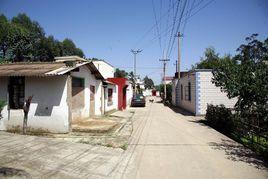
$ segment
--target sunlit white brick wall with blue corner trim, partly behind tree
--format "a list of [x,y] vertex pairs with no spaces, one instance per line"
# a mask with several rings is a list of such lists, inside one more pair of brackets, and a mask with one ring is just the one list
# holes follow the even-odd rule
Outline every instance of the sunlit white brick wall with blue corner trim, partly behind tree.
[[226,93],[221,92],[212,82],[213,74],[210,71],[196,72],[196,115],[206,114],[207,104],[224,104],[233,108],[237,99],[229,99]]

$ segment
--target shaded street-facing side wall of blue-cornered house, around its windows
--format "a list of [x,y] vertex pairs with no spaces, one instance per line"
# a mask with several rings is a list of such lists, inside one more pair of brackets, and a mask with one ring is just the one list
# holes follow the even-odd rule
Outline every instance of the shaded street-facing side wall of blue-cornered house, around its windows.
[[[185,93],[185,87],[187,88],[188,83],[191,83],[191,100],[189,101],[188,99],[186,99],[186,93]],[[181,85],[183,86],[183,98],[181,98]],[[196,86],[196,82],[195,82],[195,73],[189,73],[189,75],[184,76],[180,79],[179,82],[179,88],[178,88],[178,97],[179,97],[179,106],[183,109],[186,109],[187,111],[190,111],[192,113],[195,113],[195,96],[196,96],[196,92],[195,92],[195,86]]]

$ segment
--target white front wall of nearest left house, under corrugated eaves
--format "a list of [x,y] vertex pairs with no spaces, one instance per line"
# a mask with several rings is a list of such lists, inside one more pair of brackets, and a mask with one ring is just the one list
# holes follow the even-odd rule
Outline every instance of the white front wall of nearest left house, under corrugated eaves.
[[[28,126],[50,132],[69,131],[67,76],[26,77],[25,98],[34,95],[28,115]],[[7,78],[1,78],[0,99],[7,101]],[[22,126],[23,110],[3,110],[0,129]]]

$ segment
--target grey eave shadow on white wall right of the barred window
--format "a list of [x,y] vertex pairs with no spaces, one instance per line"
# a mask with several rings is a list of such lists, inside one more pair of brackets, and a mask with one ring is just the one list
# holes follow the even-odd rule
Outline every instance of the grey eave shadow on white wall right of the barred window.
[[[66,80],[62,77],[37,78],[31,81],[33,88],[28,89],[34,95],[32,104],[37,104],[35,116],[51,116],[53,108],[60,106]],[[27,97],[27,96],[25,96]]]

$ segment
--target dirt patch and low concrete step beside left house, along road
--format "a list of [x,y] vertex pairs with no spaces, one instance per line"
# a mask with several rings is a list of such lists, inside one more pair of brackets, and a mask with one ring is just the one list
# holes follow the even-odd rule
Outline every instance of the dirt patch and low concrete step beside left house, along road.
[[53,137],[91,145],[121,148],[126,150],[132,133],[133,111],[117,111],[101,118],[79,121],[69,134],[55,134]]

